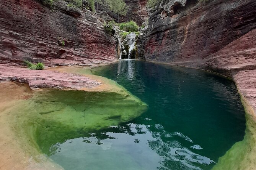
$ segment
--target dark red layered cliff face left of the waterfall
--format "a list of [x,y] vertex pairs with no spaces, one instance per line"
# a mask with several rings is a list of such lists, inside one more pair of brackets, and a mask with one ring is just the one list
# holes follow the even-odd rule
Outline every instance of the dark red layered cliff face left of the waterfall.
[[34,0],[2,0],[0,63],[24,59],[47,65],[116,61],[116,38],[104,31],[104,20],[85,8],[67,8],[61,2],[51,10]]

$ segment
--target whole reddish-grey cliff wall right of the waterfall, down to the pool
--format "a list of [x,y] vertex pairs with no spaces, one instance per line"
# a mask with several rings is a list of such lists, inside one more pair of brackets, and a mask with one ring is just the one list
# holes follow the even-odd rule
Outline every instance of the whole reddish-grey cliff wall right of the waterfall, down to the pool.
[[233,77],[256,110],[255,13],[255,0],[162,0],[139,36],[139,57]]

